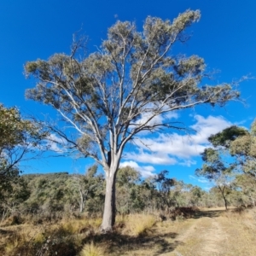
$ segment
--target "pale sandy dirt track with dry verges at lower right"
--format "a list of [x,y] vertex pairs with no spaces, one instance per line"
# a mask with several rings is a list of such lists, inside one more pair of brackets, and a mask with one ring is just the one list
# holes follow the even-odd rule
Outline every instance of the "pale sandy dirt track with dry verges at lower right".
[[224,210],[200,212],[187,220],[189,227],[175,238],[177,247],[160,255],[256,255],[254,218]]

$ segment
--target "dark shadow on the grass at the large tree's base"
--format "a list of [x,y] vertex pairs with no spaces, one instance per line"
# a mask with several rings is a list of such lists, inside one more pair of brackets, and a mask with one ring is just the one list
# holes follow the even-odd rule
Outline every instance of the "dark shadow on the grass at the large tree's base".
[[132,255],[133,251],[148,251],[151,249],[150,255],[156,256],[160,253],[172,252],[178,245],[182,244],[181,241],[168,241],[169,239],[174,239],[177,235],[177,233],[173,232],[160,235],[156,234],[154,230],[145,236],[138,237],[112,232],[96,234],[95,236],[90,236],[88,240],[106,245],[109,255],[123,255],[125,253]]

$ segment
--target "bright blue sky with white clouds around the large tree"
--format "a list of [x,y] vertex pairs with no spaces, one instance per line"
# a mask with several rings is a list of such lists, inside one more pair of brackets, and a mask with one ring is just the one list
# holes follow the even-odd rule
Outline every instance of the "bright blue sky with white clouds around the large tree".
[[[174,50],[177,54],[200,55],[207,63],[207,70],[219,70],[215,82],[232,82],[250,74],[256,77],[256,2],[244,1],[117,1],[117,0],[2,0],[0,2],[0,102],[6,107],[17,106],[22,113],[37,116],[49,113],[49,107],[25,100],[25,90],[35,84],[25,79],[23,65],[38,58],[47,59],[56,52],[69,53],[73,32],[80,29],[89,36],[89,51],[95,51],[106,38],[109,26],[119,20],[137,22],[138,30],[148,15],[164,20],[177,17],[186,9],[200,9],[201,20],[189,33],[189,42]],[[150,152],[129,146],[122,161],[147,175],[166,169],[171,177],[186,183],[207,186],[193,178],[201,166],[200,152],[207,146],[207,136],[228,125],[249,127],[256,117],[255,80],[240,85],[241,97],[247,106],[230,102],[225,108],[201,107],[175,113],[173,119],[182,121],[196,131],[185,135],[170,133],[156,135],[149,140]],[[150,141],[151,139],[151,141]],[[80,172],[92,161],[72,159],[44,159],[26,163],[26,172]]]

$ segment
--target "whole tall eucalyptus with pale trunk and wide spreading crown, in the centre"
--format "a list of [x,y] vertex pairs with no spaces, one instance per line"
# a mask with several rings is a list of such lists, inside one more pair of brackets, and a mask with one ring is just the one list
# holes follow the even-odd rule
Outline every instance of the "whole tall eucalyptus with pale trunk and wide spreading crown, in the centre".
[[189,39],[184,31],[200,16],[199,10],[172,21],[148,16],[143,32],[133,22],[117,21],[96,52],[87,55],[77,40],[70,55],[26,62],[26,76],[38,81],[26,97],[55,108],[78,131],[68,137],[59,129],[59,135],[105,171],[102,230],[114,224],[115,179],[127,143],[142,131],[181,129],[166,113],[204,103],[224,106],[239,96],[232,84],[203,84],[201,57],[173,55],[173,45]]

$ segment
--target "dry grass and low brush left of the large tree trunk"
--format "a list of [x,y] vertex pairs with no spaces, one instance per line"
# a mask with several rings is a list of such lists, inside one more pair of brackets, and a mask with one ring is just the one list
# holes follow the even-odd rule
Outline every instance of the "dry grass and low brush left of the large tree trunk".
[[[62,219],[56,224],[20,224],[1,228],[0,255],[76,255],[94,236],[99,218]],[[47,254],[49,253],[49,254]]]

